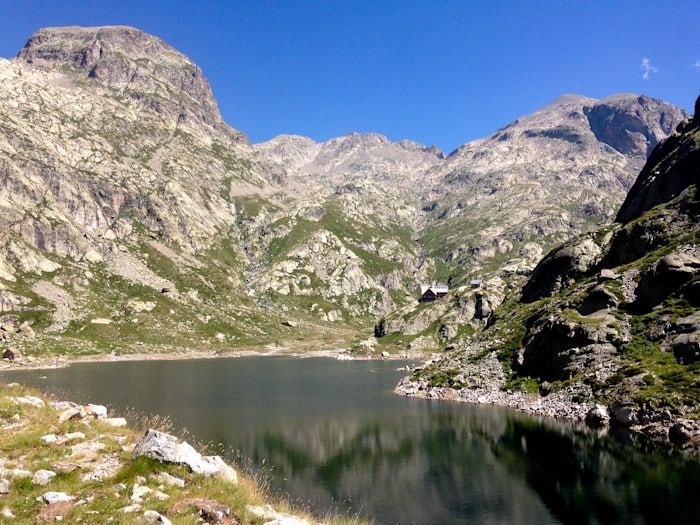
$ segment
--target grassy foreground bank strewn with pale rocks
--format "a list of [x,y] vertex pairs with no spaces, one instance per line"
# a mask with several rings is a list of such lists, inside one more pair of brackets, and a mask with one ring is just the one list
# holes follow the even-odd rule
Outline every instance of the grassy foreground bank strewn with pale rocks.
[[102,405],[0,385],[0,523],[314,523],[152,425],[168,422],[140,418],[139,431]]

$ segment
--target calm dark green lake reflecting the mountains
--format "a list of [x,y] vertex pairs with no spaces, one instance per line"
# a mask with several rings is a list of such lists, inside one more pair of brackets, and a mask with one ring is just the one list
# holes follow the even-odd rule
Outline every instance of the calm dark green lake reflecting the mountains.
[[[698,523],[700,463],[512,411],[405,399],[390,361],[246,357],[0,373],[168,416],[317,515],[378,524]],[[218,449],[216,449],[218,451]]]

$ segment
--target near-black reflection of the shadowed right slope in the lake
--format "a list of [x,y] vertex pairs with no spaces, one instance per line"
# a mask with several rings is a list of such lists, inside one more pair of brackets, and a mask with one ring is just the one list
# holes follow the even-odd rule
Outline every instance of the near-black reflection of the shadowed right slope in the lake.
[[697,523],[699,465],[660,449],[512,419],[494,450],[564,523]]

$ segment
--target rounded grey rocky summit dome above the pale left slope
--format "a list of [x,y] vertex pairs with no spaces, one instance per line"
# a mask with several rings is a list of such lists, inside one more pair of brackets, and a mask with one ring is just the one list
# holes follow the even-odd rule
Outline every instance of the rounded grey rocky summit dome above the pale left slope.
[[117,90],[178,124],[204,124],[243,139],[223,124],[202,70],[160,38],[138,29],[43,28],[29,38],[17,59],[81,83],[92,81]]

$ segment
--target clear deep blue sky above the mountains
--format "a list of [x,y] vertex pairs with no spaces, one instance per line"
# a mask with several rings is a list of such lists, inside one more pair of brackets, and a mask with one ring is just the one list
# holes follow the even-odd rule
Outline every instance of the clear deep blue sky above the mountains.
[[0,0],[0,56],[46,26],[129,25],[189,56],[251,142],[351,131],[449,152],[557,96],[692,112],[700,1]]

